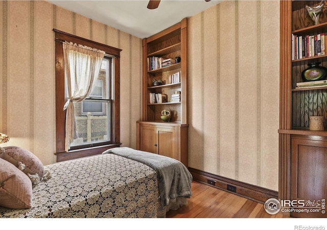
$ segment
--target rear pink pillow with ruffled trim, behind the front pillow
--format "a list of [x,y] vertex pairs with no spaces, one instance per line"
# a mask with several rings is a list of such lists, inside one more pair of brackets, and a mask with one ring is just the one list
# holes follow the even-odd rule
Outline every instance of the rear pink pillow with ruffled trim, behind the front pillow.
[[5,151],[0,149],[0,158],[7,160],[28,175],[33,185],[37,185],[42,180],[44,167],[37,156],[17,146],[8,146],[3,149]]

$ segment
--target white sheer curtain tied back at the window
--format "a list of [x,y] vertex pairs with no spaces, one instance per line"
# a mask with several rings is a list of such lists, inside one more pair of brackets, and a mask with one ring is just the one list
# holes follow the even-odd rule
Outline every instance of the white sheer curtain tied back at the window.
[[63,42],[65,78],[68,89],[66,110],[65,151],[77,138],[75,108],[73,102],[81,102],[95,87],[105,52],[73,42]]

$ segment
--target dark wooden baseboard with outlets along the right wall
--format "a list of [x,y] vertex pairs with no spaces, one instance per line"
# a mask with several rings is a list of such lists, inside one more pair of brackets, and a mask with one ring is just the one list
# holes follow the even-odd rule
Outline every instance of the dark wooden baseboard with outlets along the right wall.
[[[249,183],[218,176],[198,169],[189,168],[189,171],[195,181],[205,183],[209,186],[213,186],[259,203],[265,203],[269,198],[278,199],[278,192],[270,189],[250,185]],[[235,189],[235,192],[228,190],[227,187],[231,190]]]

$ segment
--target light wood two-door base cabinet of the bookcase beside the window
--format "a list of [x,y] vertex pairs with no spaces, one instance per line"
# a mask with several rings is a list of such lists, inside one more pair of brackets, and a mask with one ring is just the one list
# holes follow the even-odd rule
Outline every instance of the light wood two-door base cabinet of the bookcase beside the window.
[[136,148],[179,160],[188,167],[188,125],[137,122]]

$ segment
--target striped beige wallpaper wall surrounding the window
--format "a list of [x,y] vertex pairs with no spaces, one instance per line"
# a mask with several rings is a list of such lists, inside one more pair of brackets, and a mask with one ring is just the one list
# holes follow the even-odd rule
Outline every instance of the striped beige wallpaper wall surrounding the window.
[[44,1],[1,1],[0,131],[43,164],[56,162],[53,28],[120,48],[121,142],[136,147],[142,40]]

